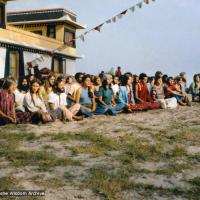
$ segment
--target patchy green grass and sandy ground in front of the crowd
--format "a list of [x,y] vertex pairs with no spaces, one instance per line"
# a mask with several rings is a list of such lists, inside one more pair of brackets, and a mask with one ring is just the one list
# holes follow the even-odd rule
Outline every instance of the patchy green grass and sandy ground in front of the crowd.
[[5,126],[0,141],[0,190],[46,190],[47,200],[200,199],[200,104]]

